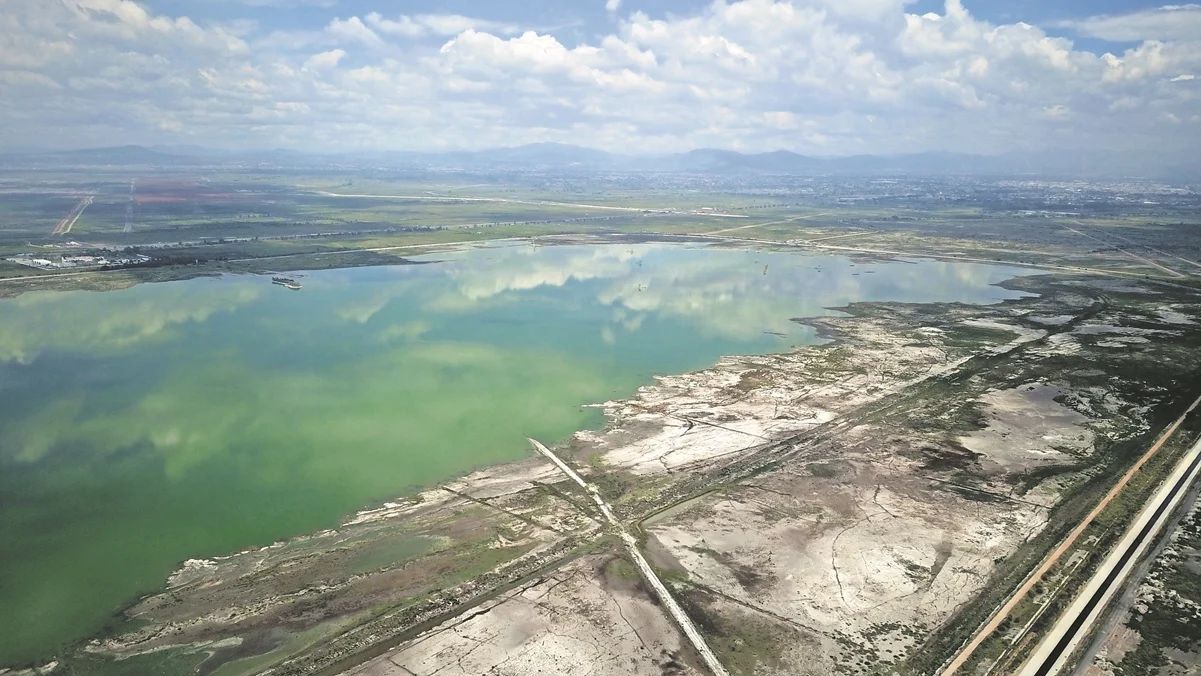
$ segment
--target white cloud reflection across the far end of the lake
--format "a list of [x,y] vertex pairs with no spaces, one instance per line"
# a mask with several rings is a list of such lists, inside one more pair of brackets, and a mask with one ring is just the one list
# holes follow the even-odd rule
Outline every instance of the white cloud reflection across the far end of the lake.
[[[431,311],[467,312],[484,303],[513,300],[520,292],[587,283],[594,300],[611,309],[607,341],[617,329],[637,331],[647,315],[748,340],[764,330],[793,328],[793,317],[862,299],[975,300],[980,289],[1014,274],[952,262],[854,263],[841,256],[673,244],[508,246],[490,249],[470,263],[452,258],[447,264],[456,288],[431,299]],[[1016,295],[996,291],[991,297]]]

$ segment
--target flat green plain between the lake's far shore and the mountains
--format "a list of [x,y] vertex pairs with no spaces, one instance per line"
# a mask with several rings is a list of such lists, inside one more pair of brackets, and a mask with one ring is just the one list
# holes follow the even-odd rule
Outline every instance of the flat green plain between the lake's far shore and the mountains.
[[[1139,190],[1149,193],[1136,199]],[[1113,199],[1097,195],[1113,192],[1128,196],[1121,215]],[[52,234],[83,196],[92,196],[92,203],[71,231]],[[125,285],[201,269],[268,270],[280,257],[288,257],[294,269],[324,268],[331,261],[377,264],[406,247],[483,239],[707,234],[868,256],[960,257],[1188,282],[1201,275],[1197,207],[1190,193],[1152,185],[1089,192],[949,179],[10,171],[0,173],[0,257],[96,250],[151,256],[154,273],[96,271]],[[394,251],[354,256],[381,249]],[[110,286],[79,270],[62,273],[70,275],[53,279],[0,262],[0,280],[35,277],[6,282],[0,294]]]

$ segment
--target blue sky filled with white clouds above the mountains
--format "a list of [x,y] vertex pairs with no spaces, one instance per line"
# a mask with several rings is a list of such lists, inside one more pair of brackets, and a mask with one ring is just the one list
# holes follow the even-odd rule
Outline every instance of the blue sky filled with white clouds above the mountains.
[[1201,5],[0,0],[0,151],[1201,149]]

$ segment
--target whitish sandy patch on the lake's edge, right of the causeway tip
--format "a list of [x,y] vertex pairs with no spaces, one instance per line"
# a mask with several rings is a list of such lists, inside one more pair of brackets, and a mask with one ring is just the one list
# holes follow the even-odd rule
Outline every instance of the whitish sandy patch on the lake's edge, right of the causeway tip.
[[[993,348],[996,353],[1045,335],[996,321],[964,324],[1016,336]],[[864,343],[854,348],[855,370],[829,369],[826,354],[801,351],[725,358],[703,372],[656,378],[631,400],[607,402],[605,414],[615,424],[604,432],[578,432],[576,443],[599,449],[608,467],[638,474],[673,472],[827,423],[967,359],[948,357],[937,328],[885,333],[865,327],[856,337]]]

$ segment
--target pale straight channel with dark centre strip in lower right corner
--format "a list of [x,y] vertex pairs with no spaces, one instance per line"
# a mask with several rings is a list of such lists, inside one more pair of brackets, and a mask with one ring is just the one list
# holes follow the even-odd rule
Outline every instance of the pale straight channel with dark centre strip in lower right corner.
[[1088,635],[1113,594],[1122,590],[1142,555],[1154,544],[1155,536],[1163,531],[1172,512],[1196,481],[1199,473],[1201,473],[1201,441],[1193,444],[1193,448],[1177,462],[1167,480],[1130,524],[1113,551],[1105,557],[1068,610],[1042,636],[1022,666],[1021,676],[1050,676],[1074,666],[1070,663],[1072,652]]

